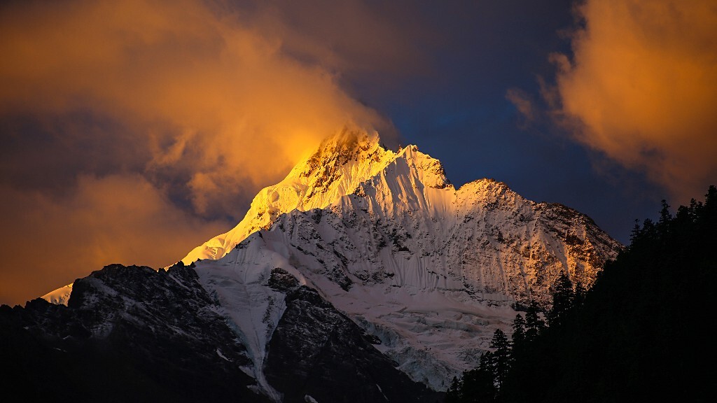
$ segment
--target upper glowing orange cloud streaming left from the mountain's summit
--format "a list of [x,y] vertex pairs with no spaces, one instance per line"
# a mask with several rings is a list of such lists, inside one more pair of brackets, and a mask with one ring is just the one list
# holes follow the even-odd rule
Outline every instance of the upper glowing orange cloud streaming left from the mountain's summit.
[[[151,151],[148,171],[185,165],[200,213],[227,207],[227,196],[208,193],[217,186],[265,184],[342,125],[381,121],[331,74],[201,1],[62,1],[3,11],[0,113],[90,110],[118,120],[126,127],[120,136]],[[77,135],[67,129],[62,136]]]

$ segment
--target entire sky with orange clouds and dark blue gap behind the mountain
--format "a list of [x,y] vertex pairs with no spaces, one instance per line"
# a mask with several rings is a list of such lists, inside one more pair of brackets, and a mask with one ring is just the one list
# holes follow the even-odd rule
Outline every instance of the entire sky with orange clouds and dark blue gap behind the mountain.
[[0,303],[163,267],[347,123],[629,242],[717,183],[711,0],[3,1]]

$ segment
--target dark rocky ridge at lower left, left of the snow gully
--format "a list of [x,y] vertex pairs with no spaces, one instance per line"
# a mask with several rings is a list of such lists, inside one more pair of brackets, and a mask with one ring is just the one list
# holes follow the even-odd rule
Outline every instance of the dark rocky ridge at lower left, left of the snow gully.
[[[184,265],[110,265],[77,280],[69,304],[0,309],[9,401],[268,402],[246,348]],[[14,397],[17,400],[14,400]]]

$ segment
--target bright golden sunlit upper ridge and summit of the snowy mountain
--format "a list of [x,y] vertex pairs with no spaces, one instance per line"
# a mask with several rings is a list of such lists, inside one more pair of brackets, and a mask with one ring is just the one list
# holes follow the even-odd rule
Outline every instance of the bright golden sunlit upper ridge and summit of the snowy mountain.
[[413,176],[426,186],[443,189],[450,185],[440,161],[420,153],[417,146],[394,153],[380,145],[378,133],[344,128],[323,141],[285,179],[259,191],[236,227],[196,247],[182,262],[219,259],[257,229],[268,229],[280,214],[322,209],[348,194],[360,194],[363,182],[390,169],[399,159],[405,160]]

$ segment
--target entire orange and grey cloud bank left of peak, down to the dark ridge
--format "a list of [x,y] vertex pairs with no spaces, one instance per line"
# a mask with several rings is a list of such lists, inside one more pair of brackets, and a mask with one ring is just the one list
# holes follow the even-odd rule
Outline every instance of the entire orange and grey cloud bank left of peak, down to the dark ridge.
[[338,85],[346,57],[322,65],[326,43],[285,40],[280,15],[247,13],[200,0],[0,6],[0,303],[110,262],[171,264],[321,138],[390,126]]

